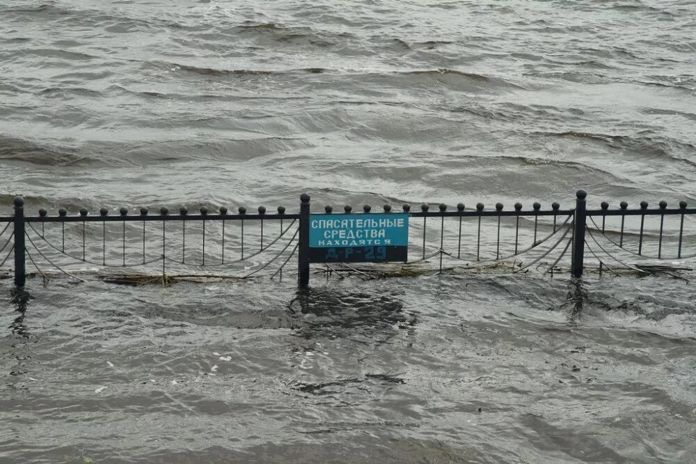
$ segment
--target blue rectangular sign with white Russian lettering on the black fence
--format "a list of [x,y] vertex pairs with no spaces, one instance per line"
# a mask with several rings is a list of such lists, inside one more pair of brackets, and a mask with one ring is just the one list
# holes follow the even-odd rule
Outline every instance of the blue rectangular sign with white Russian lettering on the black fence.
[[309,246],[313,263],[406,261],[409,215],[310,215]]

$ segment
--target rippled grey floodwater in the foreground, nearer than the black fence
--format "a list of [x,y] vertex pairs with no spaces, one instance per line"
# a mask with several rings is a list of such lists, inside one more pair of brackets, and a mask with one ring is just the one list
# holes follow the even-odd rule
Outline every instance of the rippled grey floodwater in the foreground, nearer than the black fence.
[[566,279],[518,276],[333,282],[309,295],[39,287],[26,314],[0,316],[12,331],[0,341],[2,456],[690,461],[693,288],[587,286],[585,300]]

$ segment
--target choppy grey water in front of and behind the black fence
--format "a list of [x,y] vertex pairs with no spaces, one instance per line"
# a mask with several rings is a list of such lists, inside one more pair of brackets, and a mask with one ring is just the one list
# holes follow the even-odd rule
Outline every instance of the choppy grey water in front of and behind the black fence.
[[[3,210],[696,200],[692,1],[10,0],[0,25]],[[696,451],[671,277],[3,287],[0,461]]]

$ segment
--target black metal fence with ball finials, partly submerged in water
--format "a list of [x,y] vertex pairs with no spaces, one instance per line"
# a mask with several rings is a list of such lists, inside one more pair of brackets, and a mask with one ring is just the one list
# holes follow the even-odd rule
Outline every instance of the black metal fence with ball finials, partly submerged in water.
[[[13,275],[19,287],[26,282],[27,263],[44,277],[48,267],[77,280],[81,279],[75,265],[143,268],[161,272],[163,277],[168,271],[195,268],[205,274],[189,275],[272,279],[282,278],[284,270],[294,274],[286,268],[296,256],[299,286],[306,287],[311,263],[322,263],[329,272],[360,273],[356,262],[401,261],[404,266],[428,263],[441,272],[443,262],[473,265],[513,260],[512,272],[522,272],[548,259],[552,262],[546,263],[546,273],[558,270],[569,256],[570,273],[582,277],[586,258],[609,272],[619,268],[644,272],[642,265],[628,263],[631,259],[685,263],[696,258],[696,208],[688,208],[686,201],[679,208],[668,208],[665,201],[649,208],[643,201],[639,208],[628,208],[626,202],[610,208],[603,202],[599,209],[587,209],[586,196],[578,191],[571,209],[562,209],[558,203],[550,209],[540,203],[524,209],[516,203],[512,210],[505,210],[501,203],[494,209],[482,203],[474,208],[459,203],[455,208],[440,204],[431,210],[424,203],[415,211],[406,204],[398,212],[390,205],[379,212],[365,205],[358,213],[351,206],[342,212],[326,206],[323,212],[313,213],[310,196],[303,194],[296,213],[286,212],[283,206],[274,212],[263,206],[255,212],[243,206],[236,212],[226,207],[209,211],[203,206],[196,214],[185,207],[177,212],[163,207],[155,214],[148,208],[140,208],[138,214],[120,208],[118,215],[112,215],[102,208],[98,215],[90,215],[81,208],[77,215],[69,215],[61,208],[57,215],[41,209],[35,216],[25,215],[24,200],[17,197],[14,215],[0,217],[0,226],[5,223],[0,233],[0,268],[14,256]],[[323,229],[317,229],[317,224]],[[340,229],[347,224],[358,227]],[[317,244],[324,248],[317,252]],[[239,268],[241,273],[225,274]]]

